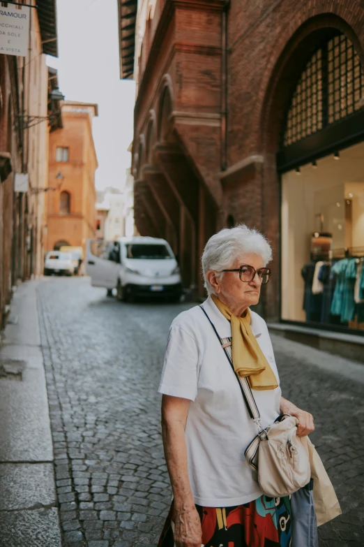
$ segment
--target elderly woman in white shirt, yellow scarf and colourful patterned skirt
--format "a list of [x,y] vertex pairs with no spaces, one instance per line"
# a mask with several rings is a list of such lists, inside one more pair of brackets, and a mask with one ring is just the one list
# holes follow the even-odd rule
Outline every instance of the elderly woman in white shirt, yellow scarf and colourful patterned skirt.
[[261,425],[287,413],[298,418],[298,435],[312,432],[311,414],[282,398],[266,323],[250,310],[269,281],[271,258],[267,240],[247,226],[213,235],[202,255],[204,310],[179,314],[169,330],[159,392],[174,501],[160,547],[290,544],[289,498],[264,496],[245,460],[257,428],[211,326],[232,341],[234,368],[248,378]]

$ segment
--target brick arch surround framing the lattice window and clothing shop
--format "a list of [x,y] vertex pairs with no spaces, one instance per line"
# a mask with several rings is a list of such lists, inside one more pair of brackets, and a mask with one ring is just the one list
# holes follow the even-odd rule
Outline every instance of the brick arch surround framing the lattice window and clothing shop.
[[285,122],[287,105],[305,64],[323,38],[333,29],[349,38],[363,64],[363,48],[354,28],[337,14],[321,13],[305,20],[289,41],[285,45],[282,43],[281,52],[264,82],[266,91],[257,124],[257,149],[264,163],[256,180],[261,187],[261,229],[273,245],[273,269],[277,272],[267,286],[264,302],[266,315],[271,319],[277,320],[280,317],[280,177],[276,154],[280,149],[282,125]]

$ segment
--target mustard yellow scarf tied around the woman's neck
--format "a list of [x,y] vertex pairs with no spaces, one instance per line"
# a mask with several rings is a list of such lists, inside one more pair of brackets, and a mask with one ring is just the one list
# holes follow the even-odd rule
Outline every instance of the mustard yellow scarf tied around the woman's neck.
[[244,317],[236,317],[214,294],[213,302],[232,324],[232,360],[236,374],[247,376],[252,389],[278,388],[277,379],[266,356],[252,333],[250,309]]

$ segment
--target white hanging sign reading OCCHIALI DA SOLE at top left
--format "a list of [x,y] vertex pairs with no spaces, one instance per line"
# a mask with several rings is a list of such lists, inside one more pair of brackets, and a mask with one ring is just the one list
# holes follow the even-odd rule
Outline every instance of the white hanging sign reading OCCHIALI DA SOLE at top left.
[[28,6],[0,3],[0,54],[26,57],[29,40],[30,10]]

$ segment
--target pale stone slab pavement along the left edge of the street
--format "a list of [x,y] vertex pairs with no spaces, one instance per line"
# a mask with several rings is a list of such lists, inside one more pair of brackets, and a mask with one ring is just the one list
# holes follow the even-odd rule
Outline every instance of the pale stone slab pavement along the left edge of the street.
[[61,547],[35,286],[17,289],[0,344],[1,547]]

